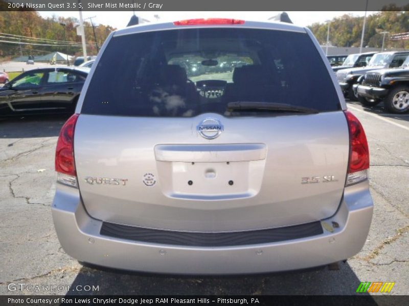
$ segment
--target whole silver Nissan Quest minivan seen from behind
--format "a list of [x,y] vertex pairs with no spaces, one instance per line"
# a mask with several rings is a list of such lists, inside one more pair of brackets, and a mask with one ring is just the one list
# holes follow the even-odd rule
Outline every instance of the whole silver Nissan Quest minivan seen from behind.
[[98,266],[321,266],[359,252],[372,219],[365,132],[316,39],[289,23],[111,33],[55,163],[59,241]]

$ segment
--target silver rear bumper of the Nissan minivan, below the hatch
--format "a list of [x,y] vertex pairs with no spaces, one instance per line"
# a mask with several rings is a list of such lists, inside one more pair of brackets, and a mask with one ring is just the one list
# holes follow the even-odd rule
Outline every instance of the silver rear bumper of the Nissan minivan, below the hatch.
[[346,188],[336,214],[322,220],[339,224],[332,228],[333,232],[323,227],[320,235],[274,243],[179,246],[103,236],[103,222],[86,213],[78,190],[57,185],[53,219],[58,239],[70,256],[104,267],[156,273],[262,273],[344,260],[359,252],[365,243],[373,211],[369,184],[362,182]]

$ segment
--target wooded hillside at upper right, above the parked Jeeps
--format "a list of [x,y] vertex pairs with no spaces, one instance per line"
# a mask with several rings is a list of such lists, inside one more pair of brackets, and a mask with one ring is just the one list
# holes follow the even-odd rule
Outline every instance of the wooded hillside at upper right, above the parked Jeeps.
[[[383,34],[387,31],[390,34],[409,32],[409,5],[396,11],[395,7],[385,7],[385,9],[395,9],[395,11],[382,11],[367,16],[363,46],[380,48],[382,46]],[[329,41],[334,46],[359,47],[362,35],[363,17],[343,15],[335,17],[330,21]],[[327,42],[327,23],[314,23],[308,27],[314,33],[320,44]],[[385,48],[409,48],[409,40],[390,41],[385,37]]]

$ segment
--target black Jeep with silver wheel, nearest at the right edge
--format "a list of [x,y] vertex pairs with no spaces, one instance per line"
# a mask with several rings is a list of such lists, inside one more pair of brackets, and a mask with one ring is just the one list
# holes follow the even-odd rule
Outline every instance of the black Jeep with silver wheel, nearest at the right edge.
[[409,57],[401,68],[368,71],[358,83],[353,89],[362,105],[372,107],[383,101],[391,113],[409,111]]

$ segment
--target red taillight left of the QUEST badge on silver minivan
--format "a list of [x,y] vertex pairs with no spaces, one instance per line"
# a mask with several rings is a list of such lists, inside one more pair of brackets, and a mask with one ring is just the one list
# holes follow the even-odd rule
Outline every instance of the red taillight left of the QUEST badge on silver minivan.
[[72,115],[62,126],[55,151],[57,182],[78,187],[74,161],[74,131],[79,114]]

